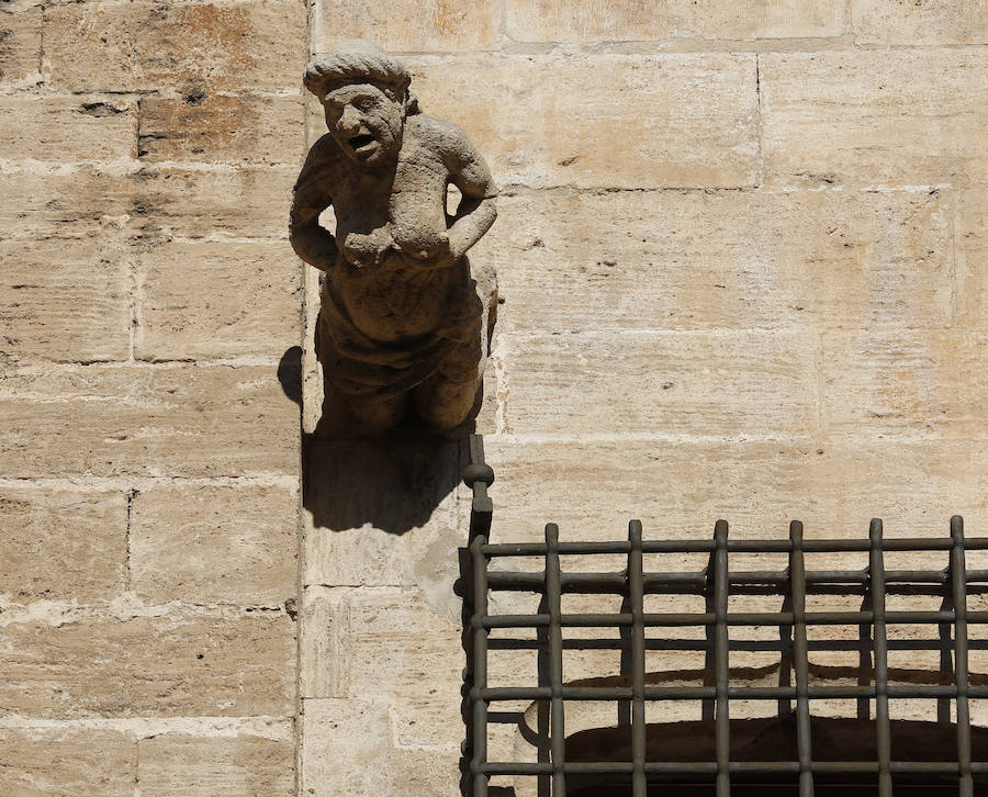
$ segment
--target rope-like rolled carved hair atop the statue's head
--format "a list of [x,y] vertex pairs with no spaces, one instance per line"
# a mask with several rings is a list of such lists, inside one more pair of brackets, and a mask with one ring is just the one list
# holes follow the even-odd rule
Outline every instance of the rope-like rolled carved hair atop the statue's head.
[[321,101],[334,89],[370,83],[393,97],[408,99],[408,113],[419,113],[418,100],[408,89],[412,74],[396,58],[370,42],[344,42],[305,67],[305,88]]

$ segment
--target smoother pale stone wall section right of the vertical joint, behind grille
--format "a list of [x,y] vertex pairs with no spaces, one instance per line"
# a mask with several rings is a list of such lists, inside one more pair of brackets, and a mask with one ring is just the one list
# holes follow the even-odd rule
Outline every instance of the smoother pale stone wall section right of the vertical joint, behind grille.
[[[472,256],[503,300],[479,420],[495,539],[631,517],[709,537],[721,516],[739,537],[794,517],[865,537],[873,516],[945,536],[952,513],[986,534],[984,2],[315,3],[314,52],[352,36],[405,54],[504,189]],[[304,794],[448,797],[462,450],[313,451]],[[391,510],[326,510],[368,481]],[[498,684],[534,683],[534,656],[505,656]],[[703,665],[680,659],[649,667]]]

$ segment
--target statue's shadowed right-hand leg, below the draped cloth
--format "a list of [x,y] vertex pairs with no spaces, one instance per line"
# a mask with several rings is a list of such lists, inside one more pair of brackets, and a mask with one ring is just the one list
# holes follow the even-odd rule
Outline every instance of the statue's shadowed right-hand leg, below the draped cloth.
[[438,370],[415,389],[415,408],[429,426],[451,429],[470,416],[484,371],[480,338],[460,344]]

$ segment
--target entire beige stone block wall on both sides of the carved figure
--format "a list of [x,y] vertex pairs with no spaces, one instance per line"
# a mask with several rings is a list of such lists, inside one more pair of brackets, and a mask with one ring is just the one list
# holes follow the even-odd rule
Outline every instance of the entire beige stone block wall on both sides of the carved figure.
[[306,428],[319,395],[285,222],[301,71],[341,38],[405,54],[504,188],[473,258],[495,538],[985,534],[986,29],[984,0],[2,3],[0,793],[278,797],[296,755],[306,796],[454,793],[462,445],[310,445],[299,659],[285,607],[300,340]]

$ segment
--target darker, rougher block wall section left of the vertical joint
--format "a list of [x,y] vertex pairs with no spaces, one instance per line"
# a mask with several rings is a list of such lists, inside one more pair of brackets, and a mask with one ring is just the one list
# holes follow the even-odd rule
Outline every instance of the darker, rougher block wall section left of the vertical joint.
[[0,794],[295,793],[306,40],[0,4]]

